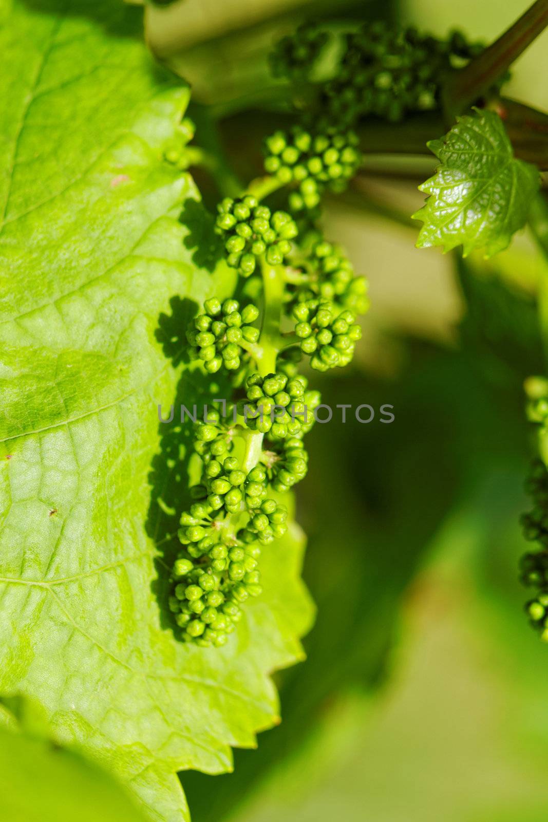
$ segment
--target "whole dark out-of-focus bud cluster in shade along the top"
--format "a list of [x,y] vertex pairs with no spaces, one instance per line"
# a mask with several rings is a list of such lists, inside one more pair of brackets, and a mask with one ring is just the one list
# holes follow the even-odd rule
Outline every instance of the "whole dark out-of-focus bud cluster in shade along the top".
[[[274,47],[271,66],[274,76],[295,83],[297,99],[302,98],[301,86],[307,82],[316,91],[304,95],[311,100],[311,108],[341,125],[370,115],[399,122],[408,113],[438,109],[444,76],[483,51],[482,44],[470,43],[460,31],[440,39],[422,35],[413,27],[398,29],[375,21],[333,35],[340,41],[340,57],[326,77],[317,71],[329,39],[323,33],[324,38],[317,25],[299,27]],[[507,78],[501,77],[496,88]]]

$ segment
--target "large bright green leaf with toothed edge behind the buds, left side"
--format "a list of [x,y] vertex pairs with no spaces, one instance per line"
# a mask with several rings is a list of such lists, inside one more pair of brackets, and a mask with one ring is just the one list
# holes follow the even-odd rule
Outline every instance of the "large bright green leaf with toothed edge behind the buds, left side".
[[163,159],[188,91],[133,36],[136,8],[0,0],[8,12],[0,689],[38,700],[56,737],[176,822],[177,770],[229,770],[230,746],[278,721],[269,672],[302,658],[311,621],[302,538],[265,549],[265,593],[223,649],[174,639],[163,560],[184,501],[165,499],[186,490],[190,436],[157,405],[217,396],[182,362],[183,321],[234,286],[223,262],[199,267],[210,223]]

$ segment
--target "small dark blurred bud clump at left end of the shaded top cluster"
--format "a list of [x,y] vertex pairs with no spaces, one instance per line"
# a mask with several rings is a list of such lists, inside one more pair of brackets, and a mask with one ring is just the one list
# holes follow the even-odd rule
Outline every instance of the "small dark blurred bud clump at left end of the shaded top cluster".
[[293,81],[307,80],[328,39],[327,32],[313,22],[299,25],[292,35],[280,39],[269,54],[273,76],[288,77]]

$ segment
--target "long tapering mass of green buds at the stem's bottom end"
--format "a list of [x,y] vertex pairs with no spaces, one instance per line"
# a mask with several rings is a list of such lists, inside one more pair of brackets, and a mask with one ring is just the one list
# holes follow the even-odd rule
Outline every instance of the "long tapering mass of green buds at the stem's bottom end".
[[[173,565],[169,598],[182,639],[203,647],[225,644],[242,603],[261,593],[260,545],[282,537],[288,519],[285,506],[267,496],[265,466],[243,470],[230,455],[233,437],[227,437],[219,413],[210,416],[213,423],[196,423],[203,473],[191,488],[196,501],[181,515],[182,551]],[[247,522],[239,527],[244,514]]]

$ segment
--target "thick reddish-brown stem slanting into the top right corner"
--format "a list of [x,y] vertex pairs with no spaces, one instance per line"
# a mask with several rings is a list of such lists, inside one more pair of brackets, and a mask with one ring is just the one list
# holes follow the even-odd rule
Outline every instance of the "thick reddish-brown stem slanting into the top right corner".
[[452,123],[456,114],[470,108],[506,72],[527,46],[548,25],[548,0],[536,0],[508,30],[479,57],[459,72],[449,75],[444,85],[444,110]]

